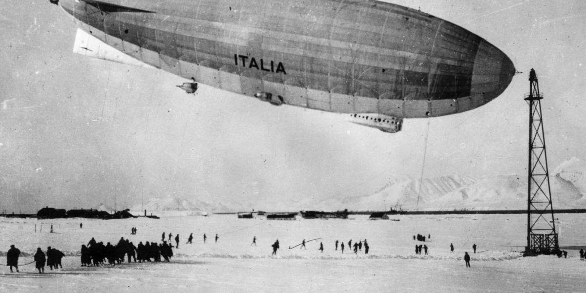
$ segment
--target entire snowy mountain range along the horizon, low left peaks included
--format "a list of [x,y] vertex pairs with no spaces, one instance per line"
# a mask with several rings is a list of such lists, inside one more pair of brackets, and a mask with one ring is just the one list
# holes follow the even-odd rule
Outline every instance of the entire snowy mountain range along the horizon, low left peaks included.
[[[586,163],[571,158],[550,172],[550,187],[555,209],[586,208]],[[163,211],[244,212],[261,209],[268,212],[282,210],[282,202],[266,200],[258,203],[237,201],[231,203],[187,200],[175,197],[149,199],[144,205],[135,205],[131,211],[142,213]],[[273,206],[274,205],[274,206]],[[290,199],[288,211],[297,210],[502,210],[527,208],[527,174],[499,175],[493,178],[447,175],[437,178],[390,180],[376,192],[362,196],[330,197],[325,200]],[[277,208],[278,207],[278,208]],[[111,207],[96,209],[111,212]]]

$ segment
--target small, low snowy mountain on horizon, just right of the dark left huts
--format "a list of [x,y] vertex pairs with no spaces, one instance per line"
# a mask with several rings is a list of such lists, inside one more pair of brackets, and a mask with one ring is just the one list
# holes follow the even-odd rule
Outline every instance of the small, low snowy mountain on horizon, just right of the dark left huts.
[[147,200],[144,205],[138,204],[131,208],[132,211],[147,210],[148,212],[163,212],[163,211],[202,211],[202,212],[233,212],[222,203],[209,203],[203,200],[195,199],[190,202],[186,199],[176,197],[152,198]]

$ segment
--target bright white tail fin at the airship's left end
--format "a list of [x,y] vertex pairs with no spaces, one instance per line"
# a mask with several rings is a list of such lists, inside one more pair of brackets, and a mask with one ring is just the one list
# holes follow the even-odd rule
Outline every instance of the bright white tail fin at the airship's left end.
[[139,67],[156,68],[114,49],[80,28],[77,28],[73,53]]

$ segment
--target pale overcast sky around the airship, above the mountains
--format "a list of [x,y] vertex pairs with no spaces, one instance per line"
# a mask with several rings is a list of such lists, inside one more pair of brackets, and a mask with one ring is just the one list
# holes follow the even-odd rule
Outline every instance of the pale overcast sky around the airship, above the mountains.
[[165,196],[287,210],[404,176],[526,176],[532,67],[550,170],[584,159],[586,2],[392,2],[471,30],[523,74],[483,107],[387,134],[207,86],[185,94],[170,73],[72,53],[76,27],[49,1],[1,5],[0,210]]

